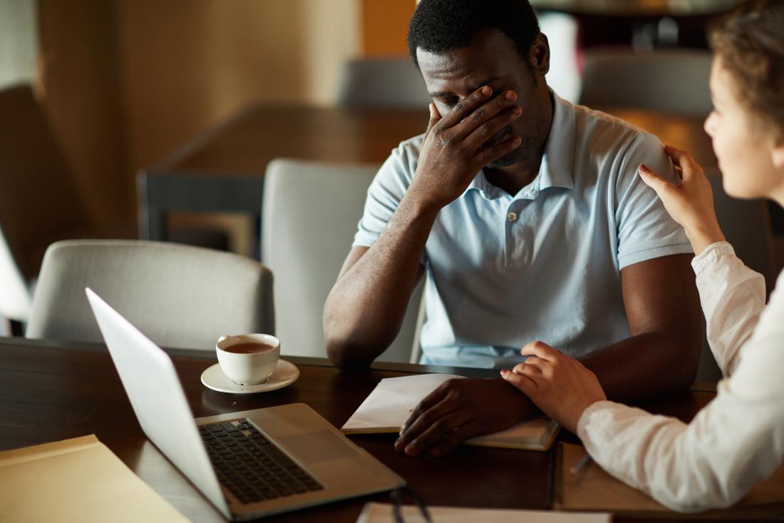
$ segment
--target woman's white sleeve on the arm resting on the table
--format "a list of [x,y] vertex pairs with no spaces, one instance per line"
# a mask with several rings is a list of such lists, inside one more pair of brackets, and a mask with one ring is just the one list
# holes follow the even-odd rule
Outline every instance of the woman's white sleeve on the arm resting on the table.
[[673,510],[729,507],[784,458],[784,291],[760,316],[737,371],[688,425],[600,401],[577,432],[593,459]]

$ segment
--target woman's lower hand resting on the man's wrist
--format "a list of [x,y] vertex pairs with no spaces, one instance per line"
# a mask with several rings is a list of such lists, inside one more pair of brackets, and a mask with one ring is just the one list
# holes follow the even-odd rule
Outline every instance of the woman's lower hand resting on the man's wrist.
[[583,411],[606,400],[596,375],[578,360],[543,342],[528,343],[520,353],[528,356],[501,377],[531,398],[550,418],[573,433]]

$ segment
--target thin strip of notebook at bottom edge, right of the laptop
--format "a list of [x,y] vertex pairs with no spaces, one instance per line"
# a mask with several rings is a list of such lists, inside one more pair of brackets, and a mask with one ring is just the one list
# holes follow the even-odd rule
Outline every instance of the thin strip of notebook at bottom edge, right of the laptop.
[[[365,503],[357,523],[394,523],[394,506],[388,503]],[[580,514],[546,510],[476,509],[463,507],[428,507],[435,523],[610,523],[610,514]],[[401,507],[405,523],[424,523],[415,505]]]

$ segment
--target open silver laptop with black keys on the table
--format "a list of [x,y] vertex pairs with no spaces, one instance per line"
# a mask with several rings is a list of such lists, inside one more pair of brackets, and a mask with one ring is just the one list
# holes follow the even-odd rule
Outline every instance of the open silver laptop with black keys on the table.
[[86,291],[144,433],[230,520],[405,485],[306,404],[194,420],[169,356]]

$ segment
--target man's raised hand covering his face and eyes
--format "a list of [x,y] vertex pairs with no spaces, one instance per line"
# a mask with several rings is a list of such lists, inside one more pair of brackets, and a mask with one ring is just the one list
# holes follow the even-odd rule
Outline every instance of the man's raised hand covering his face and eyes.
[[409,194],[440,209],[463,194],[482,167],[520,145],[521,138],[508,127],[522,114],[514,103],[517,93],[491,96],[489,86],[480,87],[444,117],[430,104],[430,123]]

